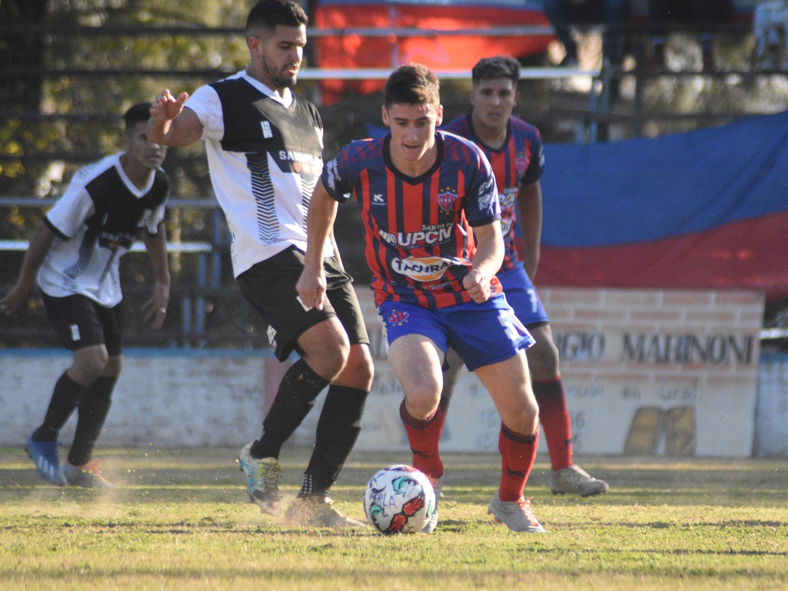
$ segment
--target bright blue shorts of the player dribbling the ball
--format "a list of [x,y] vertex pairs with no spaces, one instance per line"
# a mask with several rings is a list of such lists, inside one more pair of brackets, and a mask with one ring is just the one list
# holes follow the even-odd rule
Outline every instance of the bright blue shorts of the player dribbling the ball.
[[389,345],[407,334],[427,336],[444,354],[449,347],[457,351],[470,371],[506,361],[535,342],[503,294],[445,308],[384,302],[378,313]]

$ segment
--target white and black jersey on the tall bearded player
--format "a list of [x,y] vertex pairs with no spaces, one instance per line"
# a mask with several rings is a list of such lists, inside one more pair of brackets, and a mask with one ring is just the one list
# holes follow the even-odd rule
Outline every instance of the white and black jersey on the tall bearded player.
[[[198,88],[186,106],[203,123],[235,276],[291,245],[306,251],[307,208],[323,169],[315,106],[289,89],[280,96],[246,72]],[[327,243],[325,256],[332,254]]]

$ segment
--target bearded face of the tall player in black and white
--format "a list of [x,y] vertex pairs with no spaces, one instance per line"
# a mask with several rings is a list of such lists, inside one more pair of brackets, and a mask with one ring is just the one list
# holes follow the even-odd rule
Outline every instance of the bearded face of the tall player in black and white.
[[277,24],[273,32],[260,30],[249,39],[252,67],[266,86],[281,91],[296,85],[307,45],[307,28]]

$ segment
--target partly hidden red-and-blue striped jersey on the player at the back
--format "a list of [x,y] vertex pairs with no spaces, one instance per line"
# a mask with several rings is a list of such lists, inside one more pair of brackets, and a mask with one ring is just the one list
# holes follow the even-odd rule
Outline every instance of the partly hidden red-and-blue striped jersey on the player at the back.
[[501,269],[514,268],[518,260],[515,248],[517,194],[520,185],[535,183],[545,169],[545,154],[542,151],[539,130],[522,119],[509,117],[504,145],[498,150],[492,150],[474,133],[470,125],[470,114],[457,117],[442,129],[470,139],[481,148],[489,160],[498,185],[500,225],[506,247]]

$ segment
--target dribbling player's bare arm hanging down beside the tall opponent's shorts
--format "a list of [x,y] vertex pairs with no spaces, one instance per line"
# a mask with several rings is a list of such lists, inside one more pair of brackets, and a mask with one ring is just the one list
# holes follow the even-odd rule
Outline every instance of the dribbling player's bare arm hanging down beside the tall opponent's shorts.
[[333,229],[337,203],[325,190],[322,180],[314,188],[307,211],[307,254],[296,290],[304,306],[323,309],[325,299],[325,272],[323,252]]

